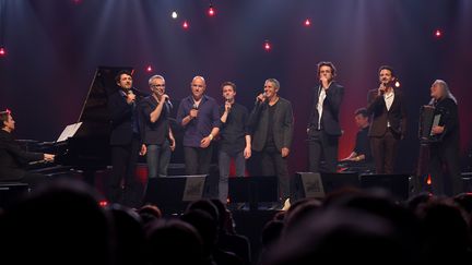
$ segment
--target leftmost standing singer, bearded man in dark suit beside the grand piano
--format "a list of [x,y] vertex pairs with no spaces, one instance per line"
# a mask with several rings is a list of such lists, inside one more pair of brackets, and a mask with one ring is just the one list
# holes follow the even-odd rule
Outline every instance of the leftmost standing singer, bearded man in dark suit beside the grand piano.
[[[117,74],[119,89],[108,97],[108,111],[111,118],[111,173],[106,181],[106,195],[110,203],[121,203],[129,207],[141,206],[144,186],[135,176],[139,153],[145,153],[141,145],[138,119],[138,91],[132,88],[132,76],[127,71]],[[121,186],[121,183],[123,186]]]

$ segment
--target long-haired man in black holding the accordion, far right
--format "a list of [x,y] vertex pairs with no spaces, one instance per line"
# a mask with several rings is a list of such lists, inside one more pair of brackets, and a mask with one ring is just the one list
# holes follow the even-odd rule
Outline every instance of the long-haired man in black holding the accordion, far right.
[[[463,192],[459,157],[460,130],[457,100],[442,80],[436,80],[433,83],[430,96],[433,98],[429,105],[433,105],[436,112],[441,115],[439,124],[432,129],[433,134],[440,136],[440,141],[429,145],[429,172],[433,193],[453,196]],[[447,171],[444,172],[444,169]]]

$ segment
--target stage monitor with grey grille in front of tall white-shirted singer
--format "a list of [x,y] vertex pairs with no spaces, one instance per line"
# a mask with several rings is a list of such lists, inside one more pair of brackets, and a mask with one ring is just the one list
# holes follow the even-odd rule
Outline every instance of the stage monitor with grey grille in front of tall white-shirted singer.
[[314,173],[296,172],[291,185],[292,200],[322,198],[326,194],[343,188],[361,188],[357,172]]

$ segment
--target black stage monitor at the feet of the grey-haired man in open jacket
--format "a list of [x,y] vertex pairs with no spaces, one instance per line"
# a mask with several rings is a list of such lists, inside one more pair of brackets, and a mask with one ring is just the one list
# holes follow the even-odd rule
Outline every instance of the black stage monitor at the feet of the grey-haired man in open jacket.
[[228,179],[231,203],[279,202],[279,182],[274,176],[251,176]]

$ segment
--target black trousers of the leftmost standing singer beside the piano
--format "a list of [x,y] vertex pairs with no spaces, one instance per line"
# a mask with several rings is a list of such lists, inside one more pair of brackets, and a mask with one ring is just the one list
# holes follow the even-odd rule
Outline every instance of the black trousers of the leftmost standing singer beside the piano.
[[141,144],[133,138],[128,145],[111,146],[111,173],[106,181],[105,193],[110,203],[137,208],[142,204],[144,184],[135,176]]

